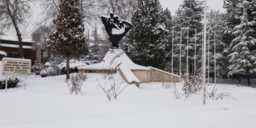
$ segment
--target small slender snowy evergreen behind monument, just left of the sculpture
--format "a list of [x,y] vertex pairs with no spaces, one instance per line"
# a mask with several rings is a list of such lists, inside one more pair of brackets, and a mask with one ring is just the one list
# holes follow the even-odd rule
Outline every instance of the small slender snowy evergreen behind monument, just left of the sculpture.
[[91,46],[89,47],[90,51],[89,51],[89,56],[90,56],[90,60],[95,61],[95,63],[99,63],[99,60],[102,58],[101,55],[99,55],[100,53],[100,38],[97,32],[97,26],[95,24],[95,28],[92,31],[92,40],[91,40]]

